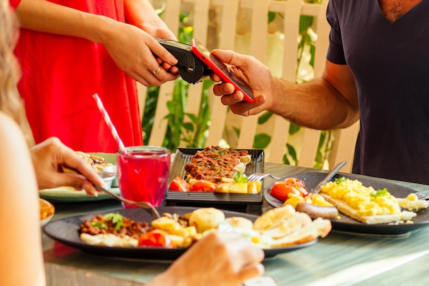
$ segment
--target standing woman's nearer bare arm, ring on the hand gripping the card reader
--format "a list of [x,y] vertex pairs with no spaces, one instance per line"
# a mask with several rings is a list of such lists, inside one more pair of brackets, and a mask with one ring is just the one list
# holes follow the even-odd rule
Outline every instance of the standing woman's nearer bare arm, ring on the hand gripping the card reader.
[[118,67],[146,86],[175,80],[177,74],[161,69],[153,53],[169,65],[177,60],[151,35],[107,16],[90,14],[45,0],[21,0],[16,8],[21,27],[39,32],[86,38],[106,47]]

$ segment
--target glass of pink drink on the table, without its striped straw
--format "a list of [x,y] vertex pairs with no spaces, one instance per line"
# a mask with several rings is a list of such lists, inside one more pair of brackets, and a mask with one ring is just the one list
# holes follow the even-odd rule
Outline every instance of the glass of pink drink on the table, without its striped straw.
[[[127,147],[127,152],[117,153],[119,189],[123,198],[135,202],[164,204],[169,180],[171,152],[164,147]],[[125,208],[135,208],[123,204]]]

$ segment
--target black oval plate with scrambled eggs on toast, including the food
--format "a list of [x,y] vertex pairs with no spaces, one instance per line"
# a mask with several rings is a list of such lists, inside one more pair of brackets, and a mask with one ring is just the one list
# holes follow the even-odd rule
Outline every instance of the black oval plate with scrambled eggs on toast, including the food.
[[[279,181],[301,180],[310,191],[325,176],[324,172],[308,172]],[[273,182],[264,190],[264,198],[271,206],[280,207],[284,205],[284,198],[276,194],[276,190],[272,191],[275,184],[278,183]],[[323,217],[323,213],[327,214],[333,206],[338,210],[337,215],[330,218],[333,230],[367,235],[405,235],[429,224],[428,202],[418,200],[414,193],[413,189],[380,178],[336,174],[321,187],[317,197],[303,199],[302,195],[289,195],[286,204],[304,211],[304,204],[299,202],[305,202],[308,211],[316,212],[312,217]],[[311,202],[314,199],[317,202]]]

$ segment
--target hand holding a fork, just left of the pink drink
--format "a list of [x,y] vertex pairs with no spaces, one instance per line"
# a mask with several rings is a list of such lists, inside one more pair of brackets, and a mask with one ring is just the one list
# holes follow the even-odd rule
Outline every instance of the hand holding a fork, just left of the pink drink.
[[[88,195],[96,195],[92,182],[104,184],[103,179],[81,156],[56,137],[32,147],[30,153],[39,189],[70,186],[77,190],[84,189]],[[75,169],[79,174],[64,173],[62,166]]]

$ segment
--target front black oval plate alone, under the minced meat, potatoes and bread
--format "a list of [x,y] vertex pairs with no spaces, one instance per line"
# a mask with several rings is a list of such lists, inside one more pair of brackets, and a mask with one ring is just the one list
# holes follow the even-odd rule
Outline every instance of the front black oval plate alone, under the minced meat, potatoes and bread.
[[[162,213],[177,213],[183,215],[195,210],[195,207],[188,206],[163,206],[157,208]],[[222,210],[223,211],[223,210]],[[91,246],[84,243],[80,238],[80,224],[85,219],[90,219],[95,215],[103,215],[105,213],[121,213],[124,217],[136,220],[138,222],[151,222],[154,217],[141,208],[119,208],[112,211],[103,211],[97,213],[90,213],[87,215],[79,215],[75,217],[67,217],[65,219],[58,219],[49,222],[43,231],[52,239],[78,248],[84,252],[91,254],[99,254],[109,257],[133,258],[133,259],[158,259],[158,260],[174,260],[180,257],[187,249],[186,248],[123,248],[123,247],[109,247],[109,246]],[[235,211],[223,211],[225,217],[246,217],[247,219],[254,220],[258,217],[256,215],[249,215],[246,213],[238,213]],[[277,254],[284,252],[291,252],[301,248],[306,248],[317,243],[317,239],[308,243],[298,244],[296,246],[288,246],[284,248],[271,248],[264,249],[265,258],[274,257]]]

